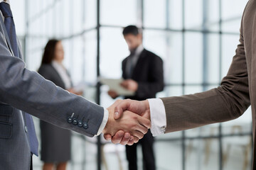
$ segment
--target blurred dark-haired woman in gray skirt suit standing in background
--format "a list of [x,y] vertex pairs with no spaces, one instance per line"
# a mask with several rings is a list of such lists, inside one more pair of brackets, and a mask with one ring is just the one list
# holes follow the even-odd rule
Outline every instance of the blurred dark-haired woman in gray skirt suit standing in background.
[[[38,73],[63,89],[75,93],[70,76],[63,66],[64,50],[60,40],[49,40]],[[71,132],[40,121],[43,170],[65,170],[71,157]]]

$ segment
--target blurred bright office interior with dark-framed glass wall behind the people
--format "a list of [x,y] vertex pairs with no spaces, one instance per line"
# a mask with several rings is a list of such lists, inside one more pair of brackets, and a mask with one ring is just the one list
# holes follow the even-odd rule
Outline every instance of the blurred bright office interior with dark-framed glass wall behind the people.
[[[63,42],[64,64],[73,82],[85,82],[84,97],[107,107],[114,100],[107,95],[107,86],[97,84],[97,79],[122,77],[121,62],[129,55],[122,36],[124,26],[143,28],[144,47],[164,60],[165,88],[157,97],[193,94],[218,86],[227,74],[246,3],[11,0],[11,8],[28,69],[38,69],[46,42],[58,38]],[[251,169],[251,117],[248,108],[237,120],[156,137],[157,169]],[[39,120],[34,120],[40,137]],[[138,157],[142,169],[141,152]],[[34,157],[34,169],[41,169],[42,164],[40,157]],[[125,147],[73,132],[68,169],[126,170]]]

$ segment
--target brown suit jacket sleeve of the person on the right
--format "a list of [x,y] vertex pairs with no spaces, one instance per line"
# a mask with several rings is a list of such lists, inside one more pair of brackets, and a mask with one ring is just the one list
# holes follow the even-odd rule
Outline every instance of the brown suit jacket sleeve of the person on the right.
[[198,94],[161,99],[166,109],[166,132],[196,128],[240,117],[250,106],[242,26],[240,44],[228,74],[218,88]]

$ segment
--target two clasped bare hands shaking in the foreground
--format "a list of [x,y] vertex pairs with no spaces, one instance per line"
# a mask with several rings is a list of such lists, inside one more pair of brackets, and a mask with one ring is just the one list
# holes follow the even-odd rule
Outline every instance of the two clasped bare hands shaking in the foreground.
[[151,128],[148,101],[117,100],[107,110],[109,118],[102,133],[114,144],[133,145]]

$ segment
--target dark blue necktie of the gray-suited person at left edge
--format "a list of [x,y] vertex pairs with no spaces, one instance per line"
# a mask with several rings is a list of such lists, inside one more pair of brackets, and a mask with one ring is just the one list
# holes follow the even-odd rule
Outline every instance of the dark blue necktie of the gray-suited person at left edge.
[[[4,16],[4,26],[6,27],[6,31],[11,42],[11,49],[14,52],[14,56],[19,57],[14,18],[11,13],[10,5],[4,2],[1,2],[0,10]],[[25,130],[28,132],[31,153],[36,154],[38,156],[38,140],[36,138],[35,126],[33,124],[33,119],[31,115],[29,115],[28,113],[25,113],[25,122],[26,122]]]

